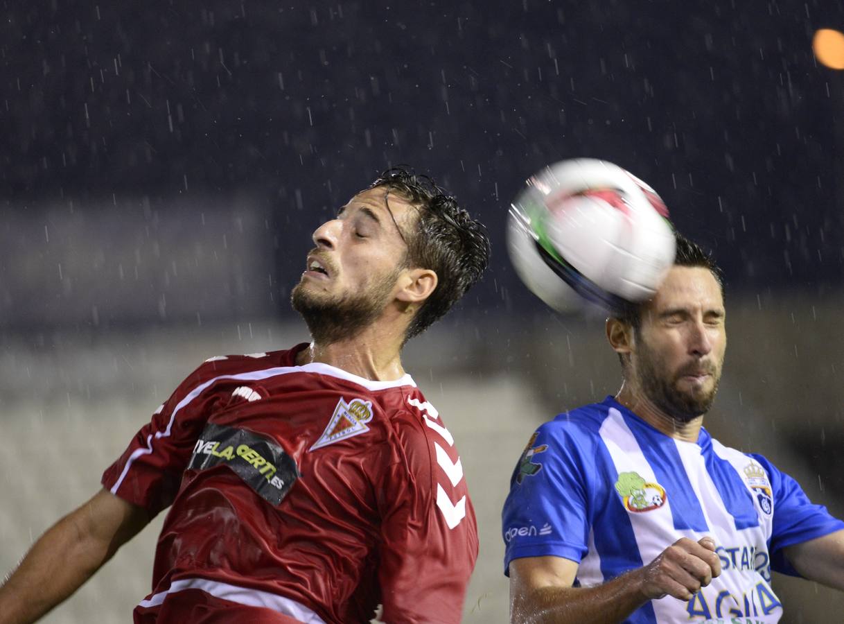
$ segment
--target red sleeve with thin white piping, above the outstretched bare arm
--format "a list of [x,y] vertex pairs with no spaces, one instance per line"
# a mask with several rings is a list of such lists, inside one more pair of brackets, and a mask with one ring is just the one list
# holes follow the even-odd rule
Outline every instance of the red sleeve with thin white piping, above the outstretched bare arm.
[[225,374],[220,370],[225,366],[219,365],[225,362],[205,362],[176,388],[103,473],[103,487],[151,515],[170,506],[193,446],[219,400],[209,391],[214,379]]

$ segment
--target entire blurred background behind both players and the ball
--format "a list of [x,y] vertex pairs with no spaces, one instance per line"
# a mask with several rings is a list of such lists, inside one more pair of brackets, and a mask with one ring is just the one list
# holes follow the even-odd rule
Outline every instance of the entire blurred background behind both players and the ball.
[[[306,339],[287,301],[311,232],[398,163],[494,246],[403,356],[473,484],[464,621],[506,621],[500,508],[530,431],[618,388],[595,319],[550,312],[506,256],[509,203],[557,160],[622,165],[715,252],[730,348],[706,426],[844,517],[844,73],[812,52],[842,0],[0,6],[0,572],[198,362]],[[125,621],[156,534],[47,621]],[[776,591],[783,624],[844,610]]]

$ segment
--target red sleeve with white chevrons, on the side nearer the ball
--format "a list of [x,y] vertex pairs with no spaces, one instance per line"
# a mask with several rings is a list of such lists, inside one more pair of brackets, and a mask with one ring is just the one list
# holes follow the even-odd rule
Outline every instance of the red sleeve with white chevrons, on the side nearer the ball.
[[399,460],[385,471],[379,492],[379,582],[383,620],[390,624],[461,621],[478,557],[463,465],[435,415],[428,403],[398,415]]

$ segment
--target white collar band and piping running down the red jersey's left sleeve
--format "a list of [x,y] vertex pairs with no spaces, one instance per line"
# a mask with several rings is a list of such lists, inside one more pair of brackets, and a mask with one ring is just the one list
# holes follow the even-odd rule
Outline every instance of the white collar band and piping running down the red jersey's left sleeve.
[[[187,396],[184,399],[181,399],[181,401],[179,401],[173,409],[173,413],[170,415],[170,421],[167,423],[165,431],[155,431],[154,439],[158,440],[160,437],[170,437],[170,429],[176,421],[176,414],[178,414],[185,405],[189,404],[193,399],[196,399],[205,388],[208,388],[208,386],[214,382],[218,382],[220,379],[258,381],[261,379],[267,379],[268,377],[276,377],[277,375],[289,375],[294,372],[310,372],[316,373],[317,375],[325,375],[327,377],[337,377],[338,379],[344,379],[347,382],[357,383],[359,386],[363,386],[367,390],[385,390],[387,388],[399,388],[401,386],[413,386],[416,388],[416,383],[414,382],[413,377],[410,377],[408,374],[392,381],[376,382],[371,381],[370,379],[365,379],[364,377],[358,377],[350,372],[345,372],[335,366],[322,364],[321,362],[314,362],[304,366],[276,366],[275,368],[266,368],[262,371],[241,372],[236,375],[220,375],[219,377],[209,379],[205,383],[199,384],[196,388],[193,388],[191,392],[187,393]],[[138,459],[142,455],[149,455],[149,453],[152,452],[153,436],[150,434],[147,436],[147,448],[136,448],[129,456],[129,459],[127,459],[126,465],[123,466],[120,476],[117,478],[114,486],[111,487],[112,494],[116,494],[117,490],[120,489],[120,486],[123,480],[126,479],[129,468],[132,466],[135,459]]]

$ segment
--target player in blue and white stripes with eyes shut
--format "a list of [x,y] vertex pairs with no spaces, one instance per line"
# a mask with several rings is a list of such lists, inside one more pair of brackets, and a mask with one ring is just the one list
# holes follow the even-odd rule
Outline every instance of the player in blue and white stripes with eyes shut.
[[618,395],[540,426],[513,473],[511,621],[768,624],[771,569],[844,589],[844,523],[702,426],[724,321],[717,267],[678,236],[653,300],[607,320]]

